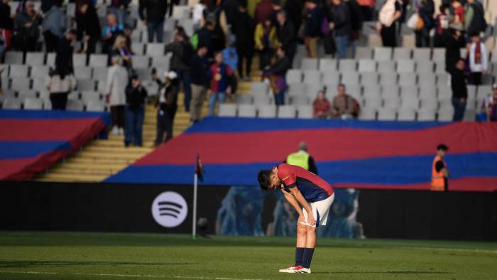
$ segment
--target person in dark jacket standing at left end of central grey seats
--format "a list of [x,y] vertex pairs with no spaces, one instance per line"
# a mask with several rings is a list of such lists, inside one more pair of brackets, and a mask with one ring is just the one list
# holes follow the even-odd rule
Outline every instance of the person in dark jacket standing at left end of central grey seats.
[[265,75],[270,77],[270,85],[273,90],[275,104],[277,106],[285,104],[285,92],[288,89],[286,82],[286,72],[292,67],[290,60],[285,55],[283,48],[276,50],[277,60],[265,71]]

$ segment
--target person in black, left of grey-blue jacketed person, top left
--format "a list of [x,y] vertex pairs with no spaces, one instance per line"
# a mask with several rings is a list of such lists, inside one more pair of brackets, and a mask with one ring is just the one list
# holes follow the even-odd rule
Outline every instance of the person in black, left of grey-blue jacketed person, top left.
[[24,6],[24,11],[17,14],[14,20],[16,48],[23,52],[33,52],[36,51],[40,37],[42,16],[35,11],[35,4],[32,1],[26,1]]

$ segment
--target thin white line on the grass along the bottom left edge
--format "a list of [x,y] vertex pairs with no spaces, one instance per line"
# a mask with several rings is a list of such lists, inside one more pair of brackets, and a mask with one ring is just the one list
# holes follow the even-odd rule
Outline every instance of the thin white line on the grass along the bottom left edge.
[[210,279],[210,280],[261,280],[261,279],[242,279],[242,278],[226,278],[226,277],[208,277],[208,276],[166,276],[166,275],[151,275],[151,274],[107,274],[107,273],[60,273],[47,271],[0,271],[4,274],[48,274],[48,275],[75,275],[75,276],[112,276],[112,277],[143,277],[143,278],[173,278],[173,279]]

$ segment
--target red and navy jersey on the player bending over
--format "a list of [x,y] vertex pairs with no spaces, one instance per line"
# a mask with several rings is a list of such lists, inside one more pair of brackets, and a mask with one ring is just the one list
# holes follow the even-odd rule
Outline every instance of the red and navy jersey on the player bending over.
[[283,187],[286,191],[297,187],[305,200],[312,203],[325,200],[333,194],[333,188],[329,183],[300,166],[280,163],[278,165],[278,178],[283,181]]

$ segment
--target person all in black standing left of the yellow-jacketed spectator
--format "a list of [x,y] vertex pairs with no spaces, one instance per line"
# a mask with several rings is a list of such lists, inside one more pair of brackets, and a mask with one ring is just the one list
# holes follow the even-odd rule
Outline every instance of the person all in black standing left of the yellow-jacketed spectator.
[[[240,5],[237,20],[234,21],[236,53],[238,54],[238,74],[242,80],[250,80],[254,48],[254,22],[247,13],[246,5]],[[245,65],[245,72],[244,72]]]

